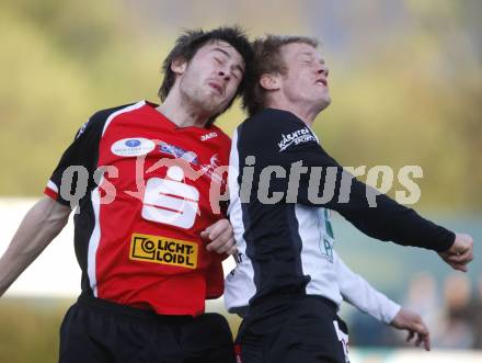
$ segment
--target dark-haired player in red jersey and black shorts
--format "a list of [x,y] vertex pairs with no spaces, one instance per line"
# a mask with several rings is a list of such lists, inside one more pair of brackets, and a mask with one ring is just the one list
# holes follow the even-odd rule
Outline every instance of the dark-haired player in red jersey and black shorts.
[[251,46],[238,29],[186,32],[164,61],[157,106],[95,113],[0,260],[0,295],[64,228],[71,207],[82,294],[60,329],[60,362],[233,362],[222,294],[232,229],[229,138],[214,120],[243,87]]

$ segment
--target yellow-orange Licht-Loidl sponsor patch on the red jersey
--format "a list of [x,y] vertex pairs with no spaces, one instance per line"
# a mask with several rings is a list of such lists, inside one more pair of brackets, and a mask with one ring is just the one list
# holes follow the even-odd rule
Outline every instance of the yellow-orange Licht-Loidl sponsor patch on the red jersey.
[[196,269],[198,246],[162,236],[133,234],[130,260]]

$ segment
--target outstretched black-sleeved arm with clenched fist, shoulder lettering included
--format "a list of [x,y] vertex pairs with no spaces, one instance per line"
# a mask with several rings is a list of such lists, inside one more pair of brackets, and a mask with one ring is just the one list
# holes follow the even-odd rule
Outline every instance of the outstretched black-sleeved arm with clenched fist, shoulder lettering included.
[[[473,242],[470,236],[456,236],[452,231],[423,218],[415,211],[359,182],[331,158],[314,138],[298,144],[287,144],[286,148],[278,149],[280,144],[276,144],[276,140],[291,135],[306,125],[286,112],[271,117],[275,118],[267,122],[275,131],[272,134],[274,136],[271,136],[274,137],[272,139],[274,145],[268,150],[264,149],[271,156],[269,162],[284,167],[287,175],[294,173],[292,166],[296,162],[302,162],[302,167],[308,168],[300,173],[298,189],[291,188],[298,203],[334,209],[370,237],[402,246],[445,252],[446,254],[441,257],[452,268],[467,270],[466,264],[473,258]],[[283,120],[292,117],[295,120]],[[263,137],[265,138],[265,134]],[[268,140],[263,141],[264,145],[267,143]],[[315,174],[314,168],[321,172]],[[290,192],[286,178],[275,179],[274,185],[288,194]],[[333,195],[322,197],[329,190],[332,190]],[[369,202],[368,196],[371,202],[376,202],[375,205]]]

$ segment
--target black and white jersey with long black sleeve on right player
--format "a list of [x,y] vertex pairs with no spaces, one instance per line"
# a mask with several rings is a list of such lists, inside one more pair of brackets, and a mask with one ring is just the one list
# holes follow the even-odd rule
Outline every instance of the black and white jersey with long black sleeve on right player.
[[[335,268],[325,208],[383,241],[435,251],[454,243],[454,232],[347,179],[311,129],[290,112],[266,109],[242,123],[232,140],[230,166],[229,214],[240,252],[226,280],[230,310],[279,292],[322,295],[340,303],[337,282],[343,276]],[[326,197],[330,182],[332,195]],[[376,206],[369,203],[370,193]]]

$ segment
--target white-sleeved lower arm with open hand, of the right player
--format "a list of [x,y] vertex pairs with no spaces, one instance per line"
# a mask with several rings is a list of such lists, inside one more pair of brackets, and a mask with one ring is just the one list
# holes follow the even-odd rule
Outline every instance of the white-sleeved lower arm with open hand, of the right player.
[[386,295],[375,290],[365,279],[354,273],[333,251],[334,265],[343,299],[359,310],[367,313],[377,320],[399,330],[409,331],[406,341],[416,338],[414,343],[423,343],[425,350],[431,350],[429,331],[422,317],[400,307]]

